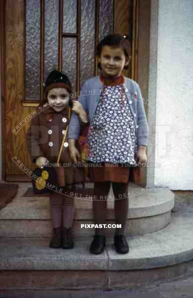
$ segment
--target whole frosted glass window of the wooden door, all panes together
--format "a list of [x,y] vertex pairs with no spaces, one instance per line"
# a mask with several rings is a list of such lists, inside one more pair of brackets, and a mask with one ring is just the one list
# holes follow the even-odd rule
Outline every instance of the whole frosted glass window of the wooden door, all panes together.
[[[62,69],[69,76],[73,92],[77,91],[78,83],[80,90],[85,80],[95,75],[95,43],[113,32],[114,0],[63,0],[59,23],[60,1],[26,0],[25,100],[40,100],[42,83],[54,69]],[[99,8],[97,20],[96,7]],[[64,35],[59,36],[59,32]],[[78,37],[73,35],[77,32]]]

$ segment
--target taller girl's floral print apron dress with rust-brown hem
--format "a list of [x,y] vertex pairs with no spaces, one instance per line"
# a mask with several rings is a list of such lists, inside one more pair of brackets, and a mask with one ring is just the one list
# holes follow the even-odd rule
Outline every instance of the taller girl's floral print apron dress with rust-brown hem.
[[93,165],[89,167],[90,178],[94,182],[128,183],[129,167],[136,166],[133,116],[120,77],[104,90],[87,136],[88,162]]

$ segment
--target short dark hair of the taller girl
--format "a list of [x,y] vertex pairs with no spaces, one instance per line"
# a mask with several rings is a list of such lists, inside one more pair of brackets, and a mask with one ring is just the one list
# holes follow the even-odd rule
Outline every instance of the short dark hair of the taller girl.
[[[110,47],[119,47],[124,50],[124,54],[126,58],[129,59],[129,40],[126,35],[120,35],[120,34],[110,34],[105,36],[100,43],[97,46],[96,49],[96,55],[98,57],[101,56],[102,48],[104,46],[110,46]],[[101,64],[100,62],[98,63],[98,68],[101,70]],[[124,67],[125,70],[129,69],[129,66]]]

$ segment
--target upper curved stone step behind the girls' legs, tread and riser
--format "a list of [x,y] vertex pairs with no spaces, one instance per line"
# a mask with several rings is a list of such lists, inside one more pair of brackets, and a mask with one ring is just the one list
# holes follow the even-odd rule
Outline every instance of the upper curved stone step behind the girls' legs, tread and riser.
[[[3,237],[49,237],[51,216],[49,197],[24,197],[29,183],[20,183],[14,200],[0,210],[0,236]],[[129,210],[126,233],[143,235],[160,230],[170,223],[174,207],[174,194],[167,188],[141,189],[129,184]],[[110,190],[107,200],[107,224],[114,224],[114,200]],[[81,228],[81,224],[93,224],[92,200],[75,198],[75,236],[92,236],[94,228]],[[112,236],[114,228],[107,228]]]

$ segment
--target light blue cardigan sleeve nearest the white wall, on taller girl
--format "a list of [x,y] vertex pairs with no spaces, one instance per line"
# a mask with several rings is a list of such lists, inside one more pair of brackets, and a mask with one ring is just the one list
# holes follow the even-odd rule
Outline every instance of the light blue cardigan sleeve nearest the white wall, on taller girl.
[[147,136],[148,136],[148,125],[147,118],[143,104],[143,98],[141,95],[141,90],[137,82],[135,82],[135,87],[137,91],[137,145],[147,147]]

